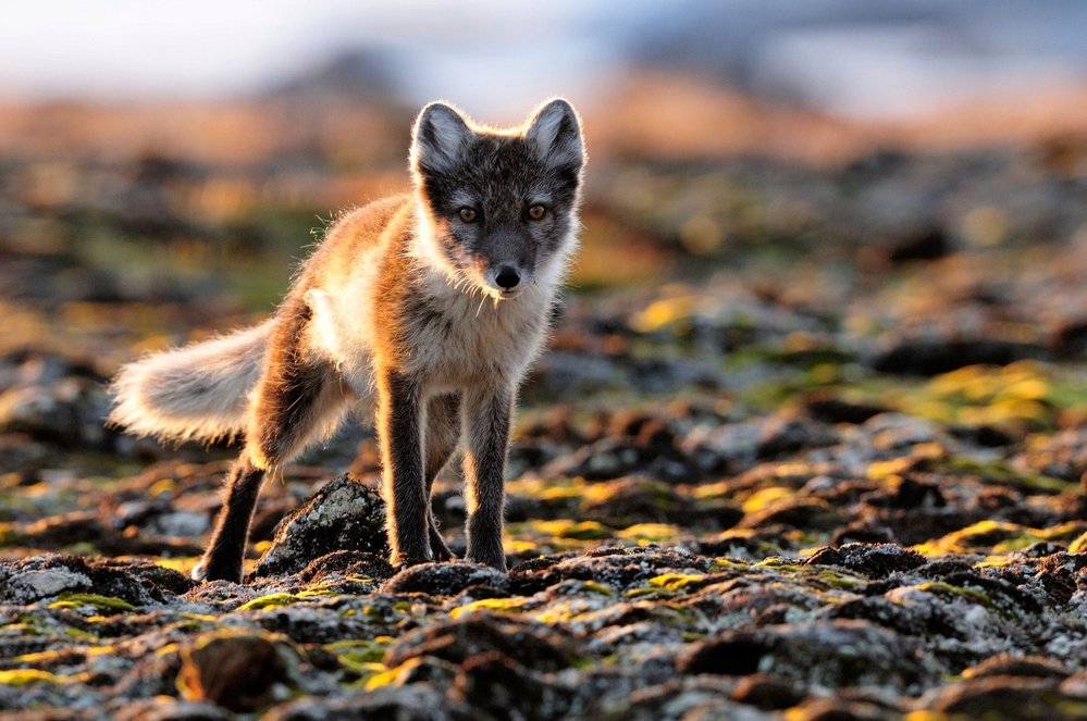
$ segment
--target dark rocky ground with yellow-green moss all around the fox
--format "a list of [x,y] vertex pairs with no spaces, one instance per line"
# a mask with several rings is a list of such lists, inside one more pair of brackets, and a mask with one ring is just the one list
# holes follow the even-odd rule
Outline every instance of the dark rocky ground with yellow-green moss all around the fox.
[[[231,278],[155,275],[134,247],[250,236],[157,204],[176,167],[99,169],[112,200],[58,204],[11,163],[0,709],[1084,718],[1084,158],[605,164],[523,394],[509,574],[394,573],[356,425],[268,485],[244,585],[187,577],[231,449],[101,420],[119,363],[252,318]],[[625,286],[600,287],[610,268]],[[435,508],[462,551],[455,472]]]

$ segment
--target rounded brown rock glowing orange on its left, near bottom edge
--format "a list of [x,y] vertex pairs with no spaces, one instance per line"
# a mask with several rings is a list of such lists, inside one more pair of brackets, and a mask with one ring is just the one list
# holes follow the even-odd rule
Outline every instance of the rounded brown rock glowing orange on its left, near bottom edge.
[[232,711],[255,711],[289,698],[298,685],[298,657],[270,634],[217,631],[181,651],[177,688],[190,701],[209,700]]

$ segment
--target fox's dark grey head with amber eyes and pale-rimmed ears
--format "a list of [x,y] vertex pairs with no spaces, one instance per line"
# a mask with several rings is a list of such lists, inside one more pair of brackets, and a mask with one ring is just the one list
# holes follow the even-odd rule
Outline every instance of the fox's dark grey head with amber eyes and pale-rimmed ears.
[[577,244],[585,163],[581,121],[566,100],[524,125],[495,129],[433,102],[419,114],[411,172],[430,259],[496,299],[554,279]]

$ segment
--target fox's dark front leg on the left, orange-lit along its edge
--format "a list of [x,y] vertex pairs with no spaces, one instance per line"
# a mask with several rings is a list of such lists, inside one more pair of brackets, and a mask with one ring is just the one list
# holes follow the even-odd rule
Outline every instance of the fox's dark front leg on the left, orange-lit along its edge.
[[422,405],[419,384],[393,370],[378,374],[378,435],[381,442],[390,562],[431,560],[430,515],[423,480]]

